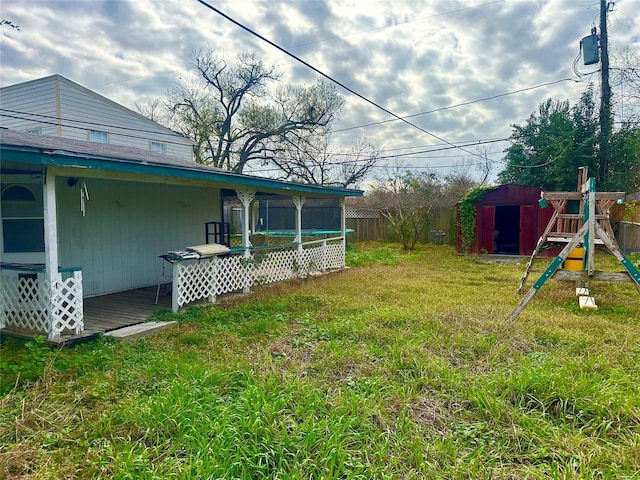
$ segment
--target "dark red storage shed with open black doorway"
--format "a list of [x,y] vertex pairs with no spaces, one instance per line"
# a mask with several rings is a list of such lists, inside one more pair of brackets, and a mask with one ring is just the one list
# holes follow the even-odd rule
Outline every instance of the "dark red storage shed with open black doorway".
[[[475,230],[471,253],[531,255],[553,215],[538,204],[542,189],[507,184],[488,189],[474,202]],[[463,251],[459,205],[457,249]]]

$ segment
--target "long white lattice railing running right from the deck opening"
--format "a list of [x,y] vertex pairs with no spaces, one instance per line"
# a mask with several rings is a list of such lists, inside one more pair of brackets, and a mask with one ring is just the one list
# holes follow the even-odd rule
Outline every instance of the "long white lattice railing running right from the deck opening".
[[[245,253],[248,251],[248,255]],[[214,302],[218,295],[245,291],[255,285],[305,277],[345,266],[343,237],[232,248],[231,254],[195,263],[173,265],[172,308],[195,301]]]

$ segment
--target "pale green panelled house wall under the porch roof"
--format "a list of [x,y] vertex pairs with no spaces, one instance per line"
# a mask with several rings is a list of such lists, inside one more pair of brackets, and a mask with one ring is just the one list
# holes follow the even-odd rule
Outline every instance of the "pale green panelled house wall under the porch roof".
[[85,296],[154,285],[158,255],[205,243],[204,223],[220,220],[217,189],[91,178],[86,185],[83,217],[79,184],[56,184],[59,261],[82,267]]

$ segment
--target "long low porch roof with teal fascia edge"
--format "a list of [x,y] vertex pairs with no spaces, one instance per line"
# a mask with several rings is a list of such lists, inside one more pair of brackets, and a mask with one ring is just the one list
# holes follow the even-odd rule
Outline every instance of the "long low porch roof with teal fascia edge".
[[362,196],[361,190],[285,182],[234,173],[210,165],[120,145],[85,142],[0,128],[0,159],[5,162],[167,176],[213,182],[226,188],[317,196]]

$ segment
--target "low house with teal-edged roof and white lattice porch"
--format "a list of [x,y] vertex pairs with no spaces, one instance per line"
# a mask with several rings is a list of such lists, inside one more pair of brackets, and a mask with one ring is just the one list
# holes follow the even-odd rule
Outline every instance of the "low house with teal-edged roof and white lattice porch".
[[[344,267],[344,198],[362,195],[236,174],[144,143],[136,148],[6,128],[0,129],[0,159],[0,328],[50,339],[82,335],[89,299],[154,287],[150,299],[157,301],[155,287],[166,267],[174,311],[256,284]],[[224,198],[242,205],[246,221],[238,247],[222,245],[229,243]],[[253,204],[284,199],[295,207],[294,241],[254,247]],[[307,199],[341,206],[335,236],[302,241]],[[218,245],[187,250],[211,243]]]

